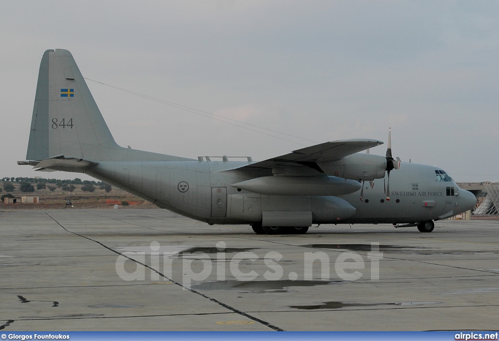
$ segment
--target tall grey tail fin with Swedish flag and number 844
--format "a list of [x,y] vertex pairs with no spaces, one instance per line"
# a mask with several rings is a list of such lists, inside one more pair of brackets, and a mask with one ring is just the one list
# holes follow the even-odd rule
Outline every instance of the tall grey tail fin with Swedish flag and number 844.
[[112,160],[121,149],[71,53],[63,49],[45,51],[38,74],[26,160],[58,155]]

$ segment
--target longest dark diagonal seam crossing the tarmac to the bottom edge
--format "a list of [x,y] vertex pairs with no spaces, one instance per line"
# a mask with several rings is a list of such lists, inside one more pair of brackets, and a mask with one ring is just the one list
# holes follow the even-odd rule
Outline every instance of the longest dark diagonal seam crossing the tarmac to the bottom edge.
[[[176,281],[174,281],[173,279],[166,277],[163,273],[159,272],[158,270],[154,269],[153,267],[151,267],[151,266],[149,266],[149,265],[147,265],[147,264],[144,264],[144,263],[142,263],[142,262],[139,262],[139,261],[137,261],[136,259],[130,258],[130,257],[128,257],[127,255],[125,255],[125,254],[123,254],[123,253],[121,253],[121,252],[118,252],[118,251],[116,251],[116,250],[113,250],[113,249],[112,249],[112,248],[110,248],[109,246],[106,246],[106,245],[102,244],[101,242],[99,242],[99,241],[97,241],[97,240],[95,240],[95,239],[92,239],[92,238],[86,237],[86,236],[84,236],[84,235],[82,235],[82,234],[78,234],[78,233],[76,233],[76,232],[69,231],[67,228],[65,228],[64,226],[62,226],[62,225],[61,225],[61,224],[60,224],[57,220],[55,220],[55,219],[54,219],[54,218],[53,218],[50,214],[48,214],[47,212],[45,212],[45,214],[46,214],[46,215],[48,215],[48,216],[49,216],[49,217],[50,217],[53,221],[55,221],[55,222],[57,223],[57,225],[59,225],[60,227],[62,227],[65,231],[67,231],[67,232],[69,232],[69,233],[72,233],[72,234],[74,234],[74,235],[77,235],[77,236],[79,236],[79,237],[85,238],[85,239],[87,239],[87,240],[93,241],[94,243],[97,243],[97,244],[101,245],[102,247],[104,247],[104,248],[108,249],[108,250],[109,250],[109,251],[111,251],[111,252],[114,252],[114,253],[116,253],[116,254],[118,254],[118,255],[121,255],[122,257],[125,257],[125,258],[127,258],[127,259],[131,260],[132,262],[135,262],[135,263],[137,263],[137,264],[140,264],[140,265],[142,265],[142,266],[144,266],[144,267],[146,267],[146,268],[150,269],[151,271],[153,271],[153,272],[157,273],[157,274],[158,274],[158,275],[160,275],[161,277],[163,277],[163,278],[167,279],[168,281],[172,282],[173,284],[178,285],[179,287],[182,287],[182,288],[183,288],[184,290],[186,290],[186,291],[190,291],[190,292],[191,292],[191,293],[193,293],[193,294],[196,294],[196,295],[199,295],[199,296],[201,296],[201,297],[203,297],[203,298],[205,298],[205,299],[208,299],[208,300],[210,300],[211,302],[216,303],[216,304],[218,304],[218,305],[219,305],[219,306],[221,306],[221,307],[224,307],[224,308],[226,308],[226,309],[228,309],[228,310],[230,310],[230,311],[232,311],[232,312],[234,312],[234,313],[236,313],[236,314],[239,314],[239,315],[241,315],[241,316],[244,316],[244,317],[246,317],[246,318],[248,318],[248,319],[250,319],[250,320],[252,320],[252,321],[254,321],[254,322],[257,322],[257,323],[259,323],[259,324],[261,324],[261,325],[263,325],[263,326],[266,326],[266,327],[268,327],[268,328],[270,328],[270,329],[272,329],[272,330],[274,330],[274,331],[284,332],[284,330],[283,330],[283,329],[280,329],[280,328],[279,328],[279,327],[277,327],[277,326],[274,326],[274,325],[272,325],[272,324],[270,324],[270,323],[268,323],[268,322],[266,322],[266,321],[263,321],[263,320],[261,320],[261,319],[258,319],[258,318],[254,317],[254,316],[252,316],[252,315],[250,315],[250,314],[248,314],[248,313],[245,313],[245,312],[243,312],[243,311],[240,311],[239,309],[236,309],[236,308],[234,308],[234,307],[232,307],[232,306],[230,306],[230,305],[228,305],[228,304],[226,304],[226,303],[223,303],[223,302],[221,302],[221,301],[219,301],[219,300],[217,300],[217,299],[215,299],[215,298],[213,298],[213,297],[210,297],[210,296],[208,296],[208,295],[205,295],[205,294],[203,294],[203,293],[200,293],[199,291],[196,291],[196,290],[194,290],[194,289],[188,288],[188,287],[186,287],[186,286],[182,285],[181,283],[176,282]],[[143,227],[143,226],[142,226],[142,227]]]

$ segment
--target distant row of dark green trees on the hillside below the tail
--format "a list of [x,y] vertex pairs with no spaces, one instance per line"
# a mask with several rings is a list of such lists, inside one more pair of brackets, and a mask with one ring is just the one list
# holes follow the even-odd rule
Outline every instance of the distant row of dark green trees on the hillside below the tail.
[[[60,180],[60,179],[45,179],[42,177],[2,177],[0,179],[3,181],[3,189],[0,187],[0,192],[5,190],[6,192],[13,192],[15,187],[13,182],[19,183],[19,190],[21,192],[34,192],[33,183],[36,184],[36,189],[45,189],[48,188],[51,192],[53,192],[56,188],[61,188],[64,191],[72,192],[76,189],[75,185],[82,185],[81,190],[85,192],[93,192],[95,191],[95,186],[98,186],[99,189],[104,189],[106,193],[109,193],[112,190],[110,184],[105,183],[103,181],[90,181],[90,180],[81,180],[78,177],[75,177],[72,180]],[[2,196],[3,199],[3,196]]]

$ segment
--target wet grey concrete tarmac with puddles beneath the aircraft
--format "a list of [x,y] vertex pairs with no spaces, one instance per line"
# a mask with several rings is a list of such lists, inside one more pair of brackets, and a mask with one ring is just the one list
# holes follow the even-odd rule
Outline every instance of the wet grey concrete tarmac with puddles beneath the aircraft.
[[0,233],[2,332],[499,329],[496,220],[270,236],[159,209],[12,210]]

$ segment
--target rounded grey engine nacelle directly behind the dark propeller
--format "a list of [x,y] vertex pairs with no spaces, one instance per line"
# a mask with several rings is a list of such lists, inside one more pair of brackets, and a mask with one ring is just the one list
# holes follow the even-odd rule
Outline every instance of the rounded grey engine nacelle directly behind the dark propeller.
[[326,174],[346,179],[372,181],[385,177],[386,158],[371,154],[353,154],[340,160],[317,162]]

